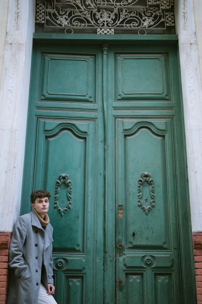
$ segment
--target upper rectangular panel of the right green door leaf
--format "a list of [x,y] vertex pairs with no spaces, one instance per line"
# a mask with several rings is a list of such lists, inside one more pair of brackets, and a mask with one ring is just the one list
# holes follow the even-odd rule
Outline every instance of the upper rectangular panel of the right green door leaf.
[[171,99],[168,54],[119,53],[115,63],[117,100]]

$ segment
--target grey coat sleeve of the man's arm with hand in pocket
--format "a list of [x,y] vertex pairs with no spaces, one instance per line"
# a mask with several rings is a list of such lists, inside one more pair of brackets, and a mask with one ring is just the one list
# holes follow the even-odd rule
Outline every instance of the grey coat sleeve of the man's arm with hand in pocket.
[[27,223],[23,217],[19,217],[13,229],[9,248],[9,267],[15,271],[17,277],[21,277],[28,266],[23,258],[23,244],[27,236]]

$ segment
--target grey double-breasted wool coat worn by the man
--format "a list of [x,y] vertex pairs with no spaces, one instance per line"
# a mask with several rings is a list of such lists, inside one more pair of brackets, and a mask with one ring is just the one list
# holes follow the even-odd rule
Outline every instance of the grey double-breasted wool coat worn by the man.
[[41,283],[53,284],[53,227],[45,229],[32,210],[16,220],[9,250],[9,287],[7,304],[37,304]]

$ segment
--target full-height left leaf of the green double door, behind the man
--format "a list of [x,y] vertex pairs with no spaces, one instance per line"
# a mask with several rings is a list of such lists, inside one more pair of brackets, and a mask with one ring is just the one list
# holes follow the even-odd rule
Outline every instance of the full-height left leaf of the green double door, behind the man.
[[51,193],[59,304],[103,303],[104,131],[97,49],[40,45],[33,53],[29,112],[35,118],[29,120],[25,164],[33,164],[33,181],[24,196],[39,188]]

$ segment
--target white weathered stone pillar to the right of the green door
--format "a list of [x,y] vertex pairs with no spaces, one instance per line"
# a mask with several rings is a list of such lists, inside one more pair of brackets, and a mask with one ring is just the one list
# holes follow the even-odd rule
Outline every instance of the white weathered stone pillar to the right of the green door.
[[192,231],[202,231],[202,86],[193,0],[175,1],[175,16],[179,37]]

